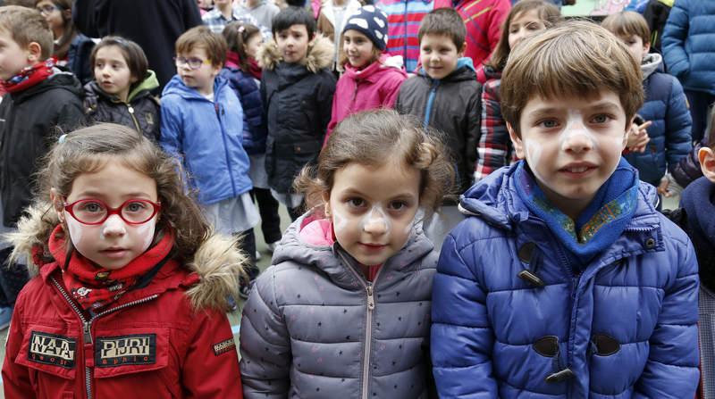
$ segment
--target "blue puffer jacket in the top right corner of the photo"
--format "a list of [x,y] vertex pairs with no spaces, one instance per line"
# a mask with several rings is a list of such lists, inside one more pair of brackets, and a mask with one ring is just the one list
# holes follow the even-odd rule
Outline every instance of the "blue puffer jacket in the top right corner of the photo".
[[715,2],[677,0],[663,30],[662,46],[669,73],[686,90],[715,96]]

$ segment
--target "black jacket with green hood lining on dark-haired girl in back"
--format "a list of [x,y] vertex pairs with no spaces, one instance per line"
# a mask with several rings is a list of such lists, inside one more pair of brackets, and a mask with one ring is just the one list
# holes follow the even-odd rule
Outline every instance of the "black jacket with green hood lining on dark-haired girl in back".
[[85,123],[119,123],[158,142],[161,112],[159,100],[151,95],[151,90],[156,87],[159,83],[154,72],[150,71],[147,79],[131,90],[127,102],[122,103],[116,96],[106,94],[97,81],[92,80],[84,87]]

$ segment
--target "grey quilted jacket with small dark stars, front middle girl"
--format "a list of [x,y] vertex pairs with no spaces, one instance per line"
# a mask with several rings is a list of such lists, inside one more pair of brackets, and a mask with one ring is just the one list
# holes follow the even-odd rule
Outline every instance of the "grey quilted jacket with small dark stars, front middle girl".
[[337,243],[303,242],[305,218],[283,236],[243,308],[244,397],[426,398],[432,243],[416,229],[371,284]]

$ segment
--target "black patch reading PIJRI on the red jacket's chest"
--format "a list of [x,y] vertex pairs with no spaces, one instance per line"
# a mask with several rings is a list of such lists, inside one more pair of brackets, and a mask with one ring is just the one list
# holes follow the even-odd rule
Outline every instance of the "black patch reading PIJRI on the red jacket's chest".
[[118,367],[156,363],[156,334],[97,337],[97,367]]

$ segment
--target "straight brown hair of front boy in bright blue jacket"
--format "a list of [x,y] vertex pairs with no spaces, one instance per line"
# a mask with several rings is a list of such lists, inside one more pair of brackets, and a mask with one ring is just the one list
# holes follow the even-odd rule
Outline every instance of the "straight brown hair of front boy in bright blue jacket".
[[526,103],[545,99],[618,95],[630,124],[644,101],[641,68],[617,37],[590,21],[567,21],[527,37],[501,75],[501,112],[520,135]]

